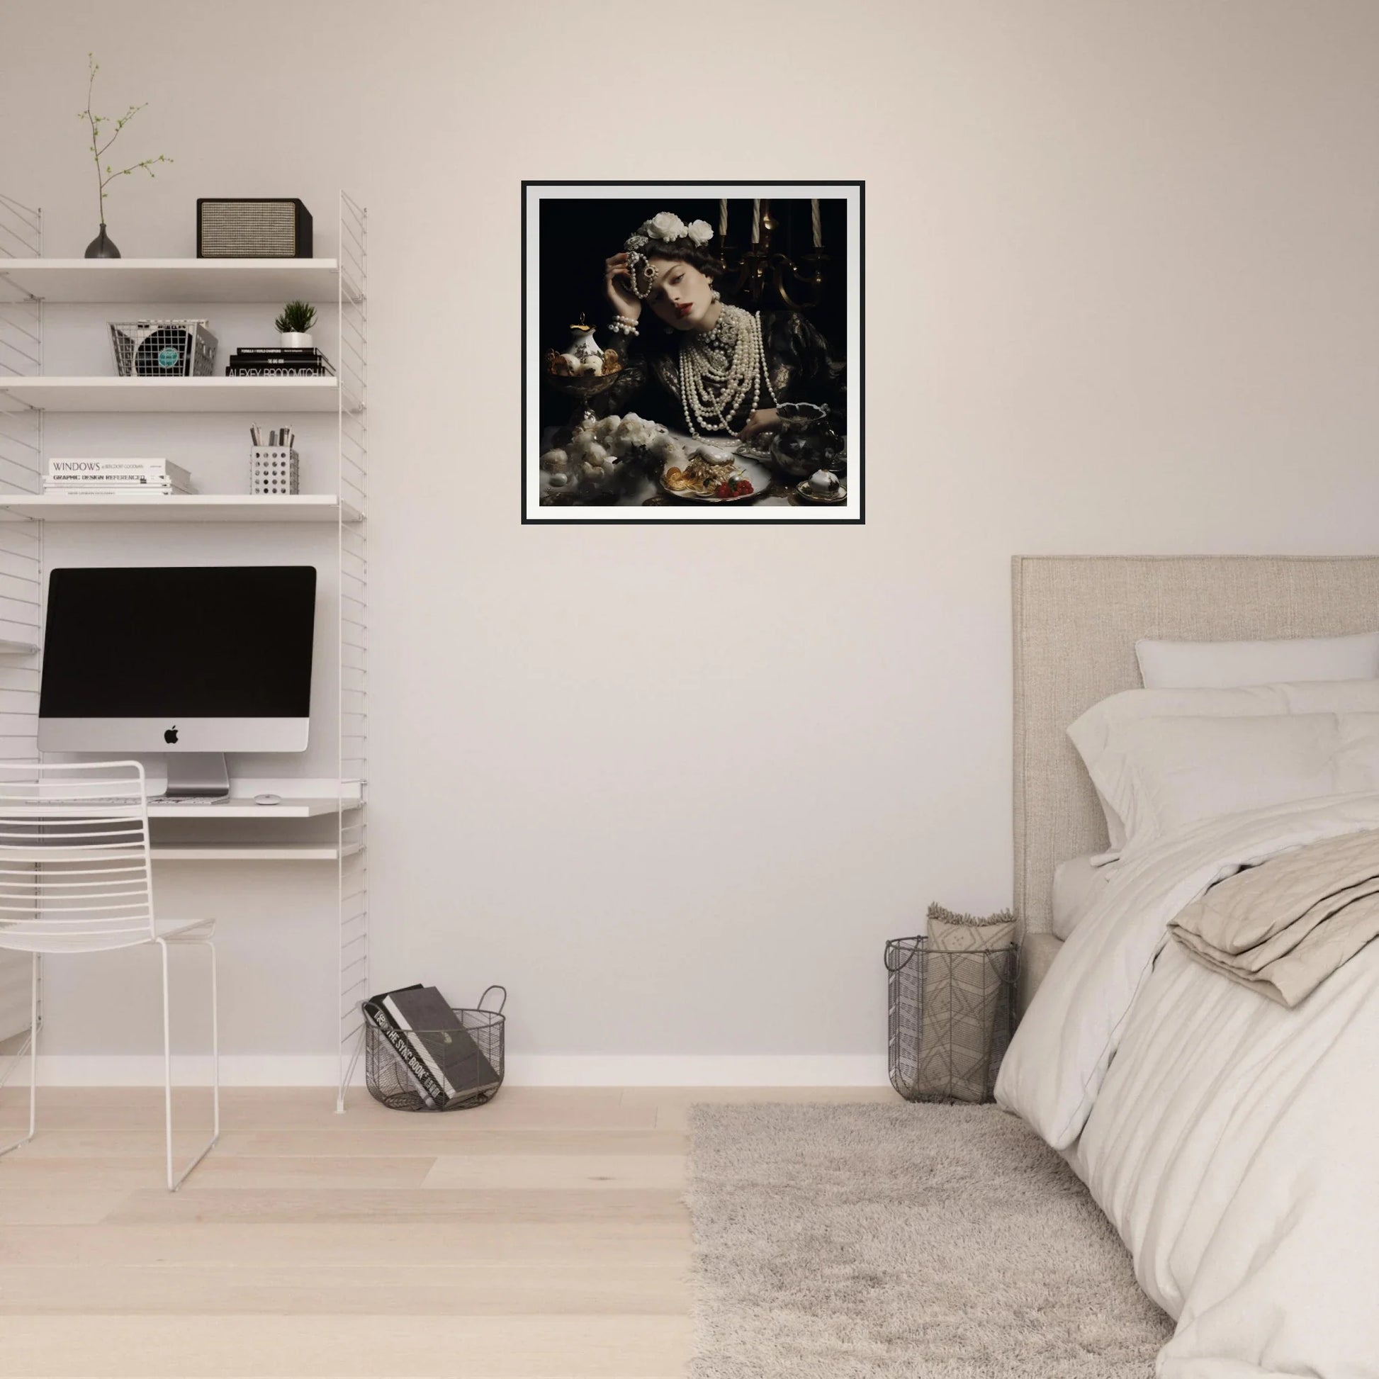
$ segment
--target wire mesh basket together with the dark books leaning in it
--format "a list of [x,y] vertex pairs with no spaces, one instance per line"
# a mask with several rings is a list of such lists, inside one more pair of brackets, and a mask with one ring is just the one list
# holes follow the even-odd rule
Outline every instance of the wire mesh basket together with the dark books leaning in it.
[[[499,993],[496,1009],[484,1005]],[[364,1012],[364,1081],[394,1111],[458,1111],[490,1102],[503,1084],[503,1007],[490,986],[476,1007],[452,1007],[434,986],[371,996]]]

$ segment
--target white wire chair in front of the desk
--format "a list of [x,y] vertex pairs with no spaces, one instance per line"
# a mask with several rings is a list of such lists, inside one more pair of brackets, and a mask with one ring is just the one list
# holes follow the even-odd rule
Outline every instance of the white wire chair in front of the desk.
[[[221,1138],[214,928],[214,920],[154,923],[149,790],[138,761],[0,761],[0,949],[32,954],[29,1036],[15,1054],[15,1059],[25,1052],[29,1055],[29,1134],[0,1147],[0,1156],[28,1145],[37,1124],[40,957],[157,943],[163,954],[167,1175],[168,1191],[177,1191]],[[177,1175],[172,1167],[170,943],[200,943],[211,958],[214,1132],[205,1147]]]

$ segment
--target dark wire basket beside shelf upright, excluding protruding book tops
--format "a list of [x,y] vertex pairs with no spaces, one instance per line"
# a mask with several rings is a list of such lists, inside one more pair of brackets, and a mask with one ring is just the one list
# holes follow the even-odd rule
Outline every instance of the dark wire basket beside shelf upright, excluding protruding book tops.
[[[502,993],[498,1009],[485,1011],[484,1003],[494,992]],[[458,1111],[491,1102],[503,1084],[506,1004],[506,987],[490,986],[479,1005],[451,1007],[458,1029],[410,1030],[401,1044],[390,1040],[365,1009],[364,1081],[370,1095],[394,1111]],[[418,1054],[425,1066],[418,1066]],[[439,1095],[433,1077],[441,1080]]]

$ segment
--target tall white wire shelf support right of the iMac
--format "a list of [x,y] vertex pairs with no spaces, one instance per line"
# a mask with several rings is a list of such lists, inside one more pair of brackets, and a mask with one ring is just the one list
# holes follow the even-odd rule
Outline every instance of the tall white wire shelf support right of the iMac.
[[[339,376],[339,1089],[364,1038],[360,1005],[368,996],[368,838],[364,786],[368,765],[368,212],[339,197],[336,374]],[[346,521],[346,505],[359,514]],[[350,807],[353,804],[353,807]]]

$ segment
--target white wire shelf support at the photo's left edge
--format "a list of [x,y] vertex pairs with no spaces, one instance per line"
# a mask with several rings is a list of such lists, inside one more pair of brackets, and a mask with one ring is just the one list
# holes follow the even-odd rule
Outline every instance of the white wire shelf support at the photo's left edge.
[[[0,259],[43,256],[43,211],[0,193]],[[43,302],[0,279],[0,375],[43,372]],[[0,494],[43,488],[43,411],[0,397]],[[0,761],[32,760],[39,734],[43,524],[0,519]],[[43,1009],[43,965],[37,969]],[[0,1085],[33,1040],[30,963],[0,950]]]

